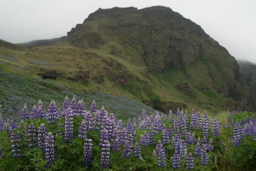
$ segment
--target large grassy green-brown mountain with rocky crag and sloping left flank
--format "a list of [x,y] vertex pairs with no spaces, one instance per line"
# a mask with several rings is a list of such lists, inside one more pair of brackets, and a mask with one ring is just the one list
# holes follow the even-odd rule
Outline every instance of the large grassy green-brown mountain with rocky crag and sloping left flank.
[[0,56],[2,72],[48,81],[51,89],[125,96],[165,113],[255,110],[234,57],[167,7],[98,9],[54,45],[0,47]]

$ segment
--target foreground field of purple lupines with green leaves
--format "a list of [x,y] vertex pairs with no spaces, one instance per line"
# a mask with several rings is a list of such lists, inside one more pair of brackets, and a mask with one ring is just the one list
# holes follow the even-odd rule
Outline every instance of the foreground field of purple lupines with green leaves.
[[122,123],[93,100],[24,105],[19,125],[0,118],[1,170],[253,170],[256,116],[177,110]]

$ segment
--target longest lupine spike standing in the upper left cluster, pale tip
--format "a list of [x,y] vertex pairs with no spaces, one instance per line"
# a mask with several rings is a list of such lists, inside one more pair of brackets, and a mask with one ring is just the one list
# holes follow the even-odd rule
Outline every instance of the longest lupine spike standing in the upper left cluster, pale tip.
[[72,109],[68,108],[65,114],[65,130],[64,130],[64,139],[69,142],[74,138],[74,114]]

